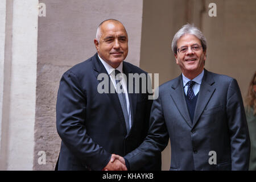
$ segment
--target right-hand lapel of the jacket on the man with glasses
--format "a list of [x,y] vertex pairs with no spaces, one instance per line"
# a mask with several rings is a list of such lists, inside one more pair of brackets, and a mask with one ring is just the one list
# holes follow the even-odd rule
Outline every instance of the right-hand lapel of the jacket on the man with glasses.
[[212,94],[214,93],[215,89],[216,88],[214,86],[214,80],[212,76],[209,74],[209,72],[206,69],[204,69],[204,77],[201,82],[199,96],[196,102],[195,114],[193,119],[193,127],[199,121],[199,118],[203,113],[205,106],[207,106],[210,98],[212,97]]

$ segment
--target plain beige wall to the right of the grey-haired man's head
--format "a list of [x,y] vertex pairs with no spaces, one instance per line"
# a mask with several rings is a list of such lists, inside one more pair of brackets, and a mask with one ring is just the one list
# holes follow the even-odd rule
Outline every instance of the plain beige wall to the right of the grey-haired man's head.
[[237,79],[245,98],[256,71],[256,1],[216,2],[217,17],[204,15],[203,31],[208,40],[206,67]]

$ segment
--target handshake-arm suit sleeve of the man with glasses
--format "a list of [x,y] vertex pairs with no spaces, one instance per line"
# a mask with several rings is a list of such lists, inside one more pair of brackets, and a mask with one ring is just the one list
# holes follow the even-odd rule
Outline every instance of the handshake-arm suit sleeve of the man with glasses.
[[154,158],[156,152],[161,152],[168,144],[168,131],[164,121],[160,98],[153,101],[150,114],[150,126],[147,137],[142,144],[130,152],[125,159],[130,164],[130,170],[138,170]]

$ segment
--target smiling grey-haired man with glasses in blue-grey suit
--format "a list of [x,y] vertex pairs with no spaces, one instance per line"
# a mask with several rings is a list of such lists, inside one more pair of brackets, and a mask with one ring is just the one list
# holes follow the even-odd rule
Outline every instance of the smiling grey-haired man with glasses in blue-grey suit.
[[170,137],[171,171],[247,170],[250,138],[237,81],[204,69],[207,40],[191,24],[175,34],[172,51],[182,73],[159,86],[148,135],[124,156],[130,169],[146,164]]

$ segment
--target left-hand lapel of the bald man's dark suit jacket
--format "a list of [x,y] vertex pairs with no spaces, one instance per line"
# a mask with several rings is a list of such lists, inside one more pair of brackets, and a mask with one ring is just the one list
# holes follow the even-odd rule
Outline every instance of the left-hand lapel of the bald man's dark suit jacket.
[[[104,65],[98,59],[97,53],[93,57],[93,69],[94,69],[96,79],[100,73],[106,73],[108,75],[108,72],[106,71]],[[126,131],[125,118],[123,117],[123,111],[122,111],[121,104],[119,102],[119,98],[117,96],[117,93],[110,93],[110,88],[111,88],[111,86],[112,86],[112,88],[114,88],[114,85],[113,85],[109,75],[108,75],[108,79],[109,79],[109,93],[103,93],[103,94],[108,95],[108,97],[110,98],[110,101],[112,102],[112,104],[114,106],[114,110],[117,112],[117,115],[120,118],[118,121],[121,123],[123,129]],[[101,80],[98,80],[98,82],[101,82]],[[127,133],[127,131],[126,131],[126,133]]]

